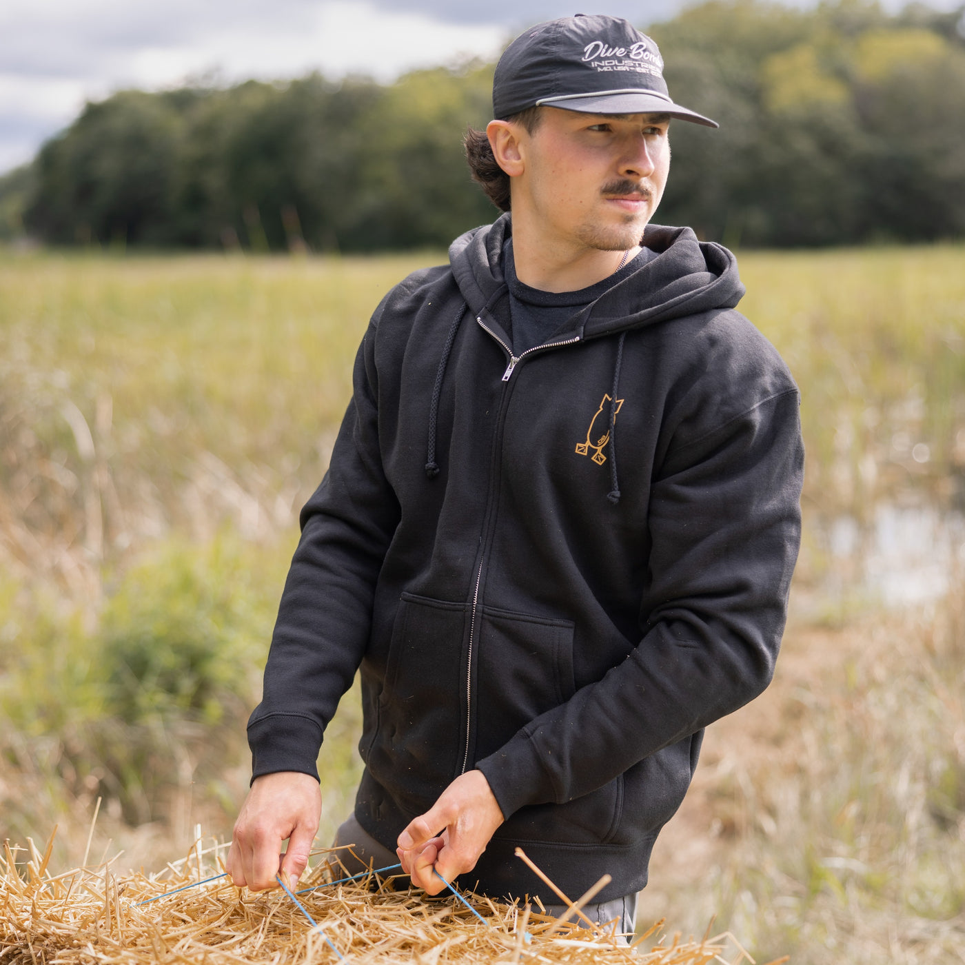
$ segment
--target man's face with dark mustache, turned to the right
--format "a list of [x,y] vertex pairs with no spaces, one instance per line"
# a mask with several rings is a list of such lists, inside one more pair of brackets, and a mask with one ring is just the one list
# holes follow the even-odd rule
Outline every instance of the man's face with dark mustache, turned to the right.
[[638,244],[670,170],[670,118],[583,114],[544,107],[520,144],[522,177],[512,208],[524,205],[557,242],[622,251]]

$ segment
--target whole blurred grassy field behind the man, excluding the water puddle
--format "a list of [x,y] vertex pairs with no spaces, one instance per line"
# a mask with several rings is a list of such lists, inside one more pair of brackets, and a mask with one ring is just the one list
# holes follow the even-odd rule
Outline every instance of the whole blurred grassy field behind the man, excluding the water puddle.
[[[0,838],[60,822],[75,865],[98,797],[92,856],[229,833],[356,345],[438,261],[0,252]],[[644,908],[700,931],[716,910],[764,960],[961,961],[962,595],[831,623],[800,601],[835,565],[830,521],[965,501],[965,248],[740,263],[803,394],[796,616],[772,690],[711,729]],[[322,838],[357,779],[353,707],[319,764]]]

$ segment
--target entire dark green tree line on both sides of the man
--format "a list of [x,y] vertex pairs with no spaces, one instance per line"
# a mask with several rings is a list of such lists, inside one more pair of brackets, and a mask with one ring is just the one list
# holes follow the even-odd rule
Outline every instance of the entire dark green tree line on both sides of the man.
[[[721,124],[673,125],[658,221],[732,245],[965,236],[965,7],[714,0],[644,29],[673,96]],[[489,119],[492,69],[120,92],[0,179],[0,233],[255,251],[445,245],[496,213],[461,148],[466,125]]]

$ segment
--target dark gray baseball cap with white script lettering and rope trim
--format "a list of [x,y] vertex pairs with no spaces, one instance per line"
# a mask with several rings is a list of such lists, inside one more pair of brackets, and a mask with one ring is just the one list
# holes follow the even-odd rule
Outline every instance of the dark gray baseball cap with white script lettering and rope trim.
[[492,81],[493,117],[546,105],[588,114],[669,114],[716,121],[675,104],[657,45],[627,20],[602,14],[547,20],[506,48]]

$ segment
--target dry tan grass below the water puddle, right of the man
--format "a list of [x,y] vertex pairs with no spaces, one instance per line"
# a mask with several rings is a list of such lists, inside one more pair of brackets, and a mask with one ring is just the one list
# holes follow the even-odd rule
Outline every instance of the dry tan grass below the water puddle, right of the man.
[[794,965],[965,962],[965,593],[792,623],[775,679],[707,731],[644,920],[711,914]]

